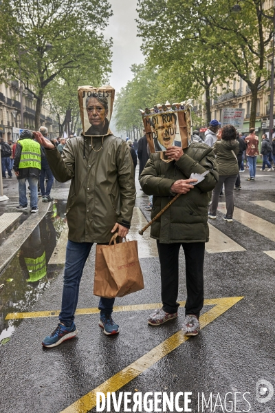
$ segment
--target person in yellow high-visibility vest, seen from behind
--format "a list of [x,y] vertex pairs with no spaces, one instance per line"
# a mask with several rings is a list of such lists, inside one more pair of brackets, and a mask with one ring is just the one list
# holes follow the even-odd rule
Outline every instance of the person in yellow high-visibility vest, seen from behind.
[[38,212],[38,182],[41,170],[41,147],[34,140],[32,131],[25,129],[20,134],[19,142],[14,157],[14,172],[19,183],[19,211],[28,209],[28,198],[26,196],[26,184],[28,179],[30,186],[30,211]]

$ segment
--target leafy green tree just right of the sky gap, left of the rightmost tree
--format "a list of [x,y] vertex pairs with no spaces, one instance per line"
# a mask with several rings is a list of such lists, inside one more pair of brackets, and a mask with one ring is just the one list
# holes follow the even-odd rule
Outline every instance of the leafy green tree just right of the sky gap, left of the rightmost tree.
[[207,24],[198,24],[192,7],[183,8],[180,3],[183,1],[138,1],[137,27],[144,41],[142,51],[149,65],[159,67],[169,76],[166,82],[172,83],[178,94],[199,98],[201,92],[205,93],[210,122],[212,90],[229,72],[204,39]]

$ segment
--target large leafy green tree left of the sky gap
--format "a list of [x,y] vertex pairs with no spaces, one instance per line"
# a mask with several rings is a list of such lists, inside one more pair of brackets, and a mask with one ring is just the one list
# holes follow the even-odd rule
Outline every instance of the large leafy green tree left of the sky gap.
[[36,129],[54,79],[78,70],[100,83],[110,72],[107,0],[2,0],[0,14],[0,70],[4,79],[19,78],[20,61],[21,81],[36,98]]

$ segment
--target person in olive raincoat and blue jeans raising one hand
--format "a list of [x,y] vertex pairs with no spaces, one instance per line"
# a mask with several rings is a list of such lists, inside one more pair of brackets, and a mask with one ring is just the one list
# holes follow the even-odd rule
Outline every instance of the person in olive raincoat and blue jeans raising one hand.
[[[91,108],[104,118],[107,98],[98,100]],[[99,110],[100,109],[100,110]],[[69,226],[64,273],[63,297],[59,324],[43,339],[43,346],[55,347],[76,337],[74,313],[78,303],[80,279],[85,262],[94,243],[109,244],[115,231],[125,237],[129,231],[135,206],[133,162],[126,142],[108,131],[98,116],[98,136],[85,136],[67,140],[61,153],[52,142],[36,132],[36,139],[45,147],[47,160],[55,178],[60,182],[71,180],[66,218]],[[100,297],[99,325],[104,334],[119,332],[111,317],[115,299]]]

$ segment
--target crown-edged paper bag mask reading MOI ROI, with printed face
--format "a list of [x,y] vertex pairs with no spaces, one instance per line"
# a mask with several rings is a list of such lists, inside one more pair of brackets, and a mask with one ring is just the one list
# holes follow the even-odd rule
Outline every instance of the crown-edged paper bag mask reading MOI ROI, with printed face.
[[192,126],[190,103],[174,103],[172,106],[156,105],[142,112],[144,129],[151,153],[166,151],[177,146],[186,148],[191,143]]

